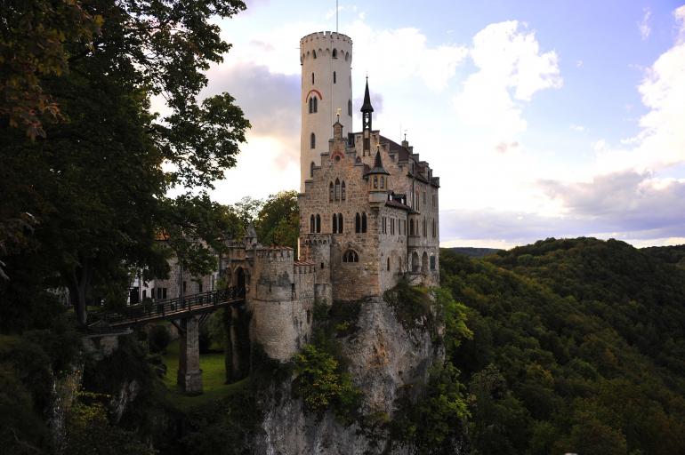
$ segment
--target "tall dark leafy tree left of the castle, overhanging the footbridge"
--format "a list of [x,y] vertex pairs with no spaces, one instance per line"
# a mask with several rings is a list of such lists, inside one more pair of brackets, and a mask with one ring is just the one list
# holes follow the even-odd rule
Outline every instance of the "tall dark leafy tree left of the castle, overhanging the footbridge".
[[[63,123],[44,124],[45,138],[35,141],[0,124],[0,193],[10,195],[0,215],[16,220],[30,213],[36,220],[32,248],[18,253],[25,260],[9,260],[14,251],[1,260],[10,277],[31,275],[18,268],[34,267],[34,279],[43,284],[37,287],[67,286],[83,324],[93,289],[118,288],[129,267],[164,267],[165,249],[156,242],[160,233],[179,233],[177,249],[206,235],[194,247],[185,246],[197,254],[184,259],[198,259],[197,270],[205,269],[207,250],[226,226],[223,209],[207,204],[204,195],[171,202],[165,194],[174,187],[213,188],[223,170],[235,165],[249,123],[228,93],[201,102],[197,96],[207,82],[202,71],[230,49],[209,19],[230,17],[245,4],[68,3],[101,17],[101,33],[85,48],[63,44],[69,72],[39,75]],[[149,114],[153,95],[164,97],[169,116]],[[179,228],[182,219],[193,222]],[[184,230],[190,224],[192,239]],[[45,268],[51,272],[38,273]],[[20,287],[0,283],[8,306],[24,304]]]

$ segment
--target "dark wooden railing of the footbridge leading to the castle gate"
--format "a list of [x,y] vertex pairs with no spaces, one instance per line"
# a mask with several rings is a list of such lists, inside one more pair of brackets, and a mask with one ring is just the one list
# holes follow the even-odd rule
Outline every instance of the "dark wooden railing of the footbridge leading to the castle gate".
[[129,323],[148,319],[164,318],[190,312],[193,309],[216,307],[231,300],[245,299],[245,288],[227,288],[191,294],[175,299],[146,300],[137,305],[130,305],[117,310],[116,313],[103,315],[109,324]]

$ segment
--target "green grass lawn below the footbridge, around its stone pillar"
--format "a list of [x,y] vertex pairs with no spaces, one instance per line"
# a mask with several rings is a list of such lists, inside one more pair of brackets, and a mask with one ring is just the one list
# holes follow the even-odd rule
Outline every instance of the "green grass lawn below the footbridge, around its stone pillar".
[[209,354],[200,355],[200,370],[202,370],[202,395],[188,396],[181,392],[181,388],[176,385],[176,375],[179,369],[179,340],[176,339],[166,347],[166,354],[163,356],[166,364],[166,375],[164,384],[168,391],[168,397],[172,403],[181,410],[188,411],[190,408],[199,404],[204,404],[231,395],[242,387],[246,386],[247,379],[240,380],[233,384],[224,384],[226,373],[223,364],[223,353],[213,351]]

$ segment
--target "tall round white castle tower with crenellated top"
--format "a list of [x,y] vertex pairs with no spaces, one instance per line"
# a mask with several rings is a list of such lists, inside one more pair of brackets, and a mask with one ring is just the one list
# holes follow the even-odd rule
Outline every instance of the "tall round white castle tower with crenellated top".
[[[340,113],[342,133],[352,132],[352,40],[336,32],[317,32],[300,40],[302,132],[300,191],[328,150]],[[340,109],[340,110],[338,110]]]

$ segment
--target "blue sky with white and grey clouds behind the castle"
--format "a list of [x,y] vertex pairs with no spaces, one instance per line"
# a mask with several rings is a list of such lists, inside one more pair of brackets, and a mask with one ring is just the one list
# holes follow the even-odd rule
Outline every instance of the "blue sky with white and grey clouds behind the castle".
[[[205,94],[253,124],[213,196],[299,186],[302,36],[335,2],[248,1]],[[592,235],[685,243],[685,5],[669,1],[340,0],[359,111],[440,176],[444,246]],[[355,117],[359,129],[360,117]]]

